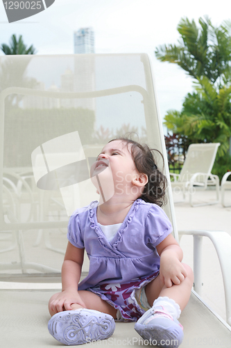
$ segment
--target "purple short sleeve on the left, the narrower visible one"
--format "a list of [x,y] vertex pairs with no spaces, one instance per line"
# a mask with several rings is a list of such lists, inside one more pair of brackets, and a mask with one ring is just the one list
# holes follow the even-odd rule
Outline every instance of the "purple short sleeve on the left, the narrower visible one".
[[78,213],[71,215],[67,230],[67,239],[69,240],[69,242],[72,245],[76,246],[76,248],[84,248]]

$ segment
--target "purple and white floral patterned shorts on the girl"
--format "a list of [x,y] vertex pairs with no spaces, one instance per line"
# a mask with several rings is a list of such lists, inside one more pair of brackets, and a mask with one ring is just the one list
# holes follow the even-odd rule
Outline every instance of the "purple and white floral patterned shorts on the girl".
[[145,309],[137,302],[135,292],[137,289],[141,289],[150,283],[158,274],[159,271],[156,271],[146,278],[132,279],[128,284],[105,283],[103,285],[89,287],[86,290],[101,296],[101,299],[119,310],[120,315],[117,315],[119,321],[136,322],[145,313]]

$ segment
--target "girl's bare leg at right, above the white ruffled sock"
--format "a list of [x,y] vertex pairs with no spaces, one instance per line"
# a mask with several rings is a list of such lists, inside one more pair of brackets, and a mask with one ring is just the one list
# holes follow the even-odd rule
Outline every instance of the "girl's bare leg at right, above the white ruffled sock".
[[173,284],[171,287],[166,287],[160,281],[160,275],[157,276],[151,283],[146,285],[145,292],[150,306],[153,306],[153,302],[159,296],[167,296],[169,299],[173,299],[180,306],[180,310],[183,310],[189,301],[191,294],[191,287],[194,283],[194,274],[191,268],[187,264],[183,264],[187,277],[179,285]]

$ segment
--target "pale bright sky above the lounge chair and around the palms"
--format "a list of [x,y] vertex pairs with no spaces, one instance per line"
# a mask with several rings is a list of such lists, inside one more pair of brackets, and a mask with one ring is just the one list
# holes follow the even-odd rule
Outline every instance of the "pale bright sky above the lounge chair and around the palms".
[[148,53],[162,118],[169,109],[180,111],[193,83],[175,64],[157,61],[155,47],[178,42],[176,28],[182,17],[198,22],[199,17],[208,15],[214,26],[231,17],[230,0],[55,0],[33,17],[8,23],[3,2],[0,44],[8,44],[16,33],[26,45],[33,44],[37,54],[73,54],[74,31],[92,26],[96,53]]

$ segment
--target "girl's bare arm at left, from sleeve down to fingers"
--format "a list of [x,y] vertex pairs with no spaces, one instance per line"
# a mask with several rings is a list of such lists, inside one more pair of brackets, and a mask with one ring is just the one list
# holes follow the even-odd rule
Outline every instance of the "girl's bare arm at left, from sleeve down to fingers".
[[65,260],[62,264],[62,292],[51,303],[53,312],[71,310],[71,304],[78,303],[85,308],[85,303],[78,294],[78,283],[83,265],[84,248],[67,244]]

